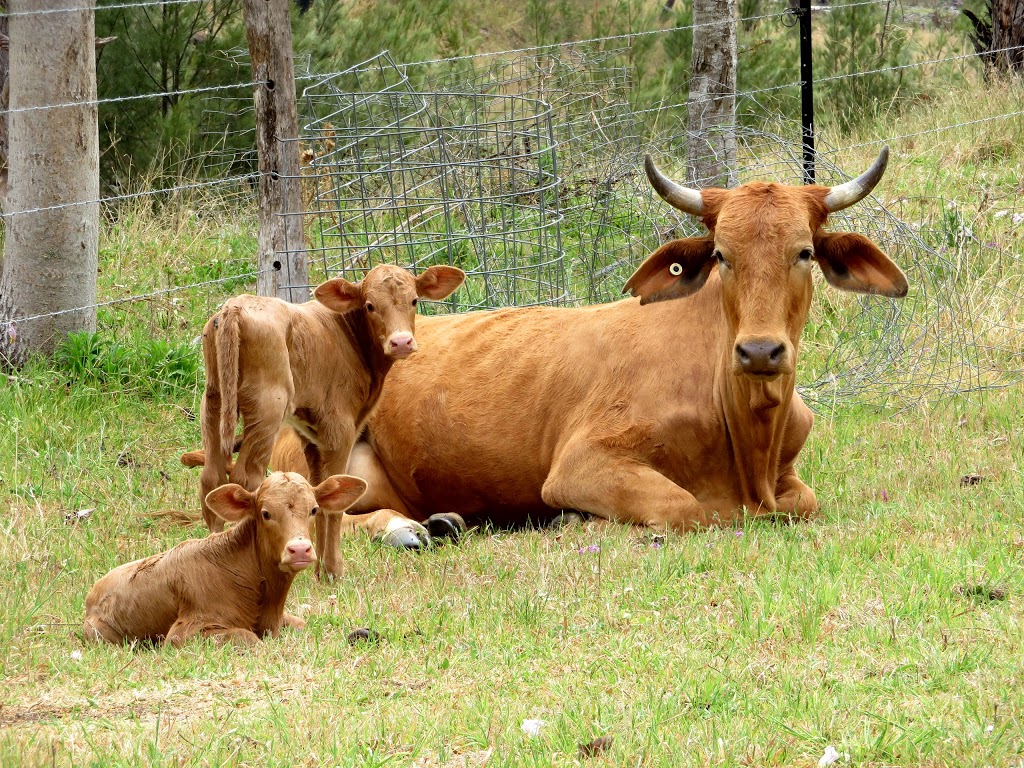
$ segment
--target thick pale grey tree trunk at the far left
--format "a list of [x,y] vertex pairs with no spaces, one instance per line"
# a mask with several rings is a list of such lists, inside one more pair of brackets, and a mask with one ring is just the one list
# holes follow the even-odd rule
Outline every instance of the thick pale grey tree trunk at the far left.
[[[91,0],[9,7],[0,362],[20,366],[32,352],[51,353],[69,333],[96,328],[99,139]],[[74,10],[20,15],[59,8]],[[66,103],[73,105],[33,109]]]

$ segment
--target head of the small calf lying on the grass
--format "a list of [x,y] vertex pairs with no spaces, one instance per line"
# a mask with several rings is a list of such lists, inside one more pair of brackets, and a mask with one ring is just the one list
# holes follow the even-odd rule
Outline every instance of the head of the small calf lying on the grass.
[[296,573],[316,561],[309,536],[316,516],[340,515],[366,489],[349,475],[332,475],[312,487],[295,472],[273,472],[255,493],[231,482],[207,494],[206,503],[227,522],[252,519],[264,565]]

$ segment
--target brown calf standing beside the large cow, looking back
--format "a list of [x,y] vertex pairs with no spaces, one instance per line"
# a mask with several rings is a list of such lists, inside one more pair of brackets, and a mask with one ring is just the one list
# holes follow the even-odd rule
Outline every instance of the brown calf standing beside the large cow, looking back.
[[[223,527],[206,498],[228,479],[239,415],[244,431],[231,482],[259,486],[286,420],[310,446],[310,461],[322,461],[312,467],[313,482],[344,471],[384,377],[417,349],[419,298],[443,299],[465,276],[453,266],[431,266],[414,278],[381,265],[357,284],[328,281],[314,291],[316,301],[305,304],[262,296],[225,302],[203,330],[207,461],[200,489],[210,530]],[[316,550],[331,573],[340,568],[338,525],[332,518],[316,521]]]

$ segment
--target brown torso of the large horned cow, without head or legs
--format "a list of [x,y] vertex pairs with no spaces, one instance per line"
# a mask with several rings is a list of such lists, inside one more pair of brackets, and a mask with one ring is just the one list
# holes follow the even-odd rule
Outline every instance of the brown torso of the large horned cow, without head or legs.
[[[719,331],[696,322],[712,298],[682,312],[623,301],[423,317],[420,353],[392,371],[370,421],[374,454],[420,515],[498,517],[549,513],[552,462],[582,436],[676,461],[666,429],[717,418],[708,358]],[[678,357],[672,380],[667,355]]]

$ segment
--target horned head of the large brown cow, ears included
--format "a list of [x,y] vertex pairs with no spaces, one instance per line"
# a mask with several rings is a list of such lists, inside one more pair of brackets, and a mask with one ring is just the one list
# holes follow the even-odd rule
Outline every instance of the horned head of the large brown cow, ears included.
[[889,147],[883,147],[867,171],[831,188],[753,182],[700,191],[667,178],[647,156],[647,177],[657,194],[700,216],[710,232],[666,243],[624,290],[641,304],[676,299],[699,290],[717,268],[733,372],[759,381],[792,374],[815,263],[844,291],[906,295],[903,272],[867,238],[821,228],[829,213],[870,194],[888,160]]

